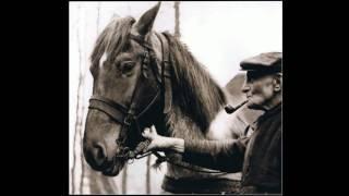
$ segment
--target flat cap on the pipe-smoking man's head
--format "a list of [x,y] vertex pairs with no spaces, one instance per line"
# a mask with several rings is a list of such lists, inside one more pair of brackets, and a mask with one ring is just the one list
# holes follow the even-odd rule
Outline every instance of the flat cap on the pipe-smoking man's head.
[[281,72],[281,52],[267,52],[243,60],[240,66],[242,71]]

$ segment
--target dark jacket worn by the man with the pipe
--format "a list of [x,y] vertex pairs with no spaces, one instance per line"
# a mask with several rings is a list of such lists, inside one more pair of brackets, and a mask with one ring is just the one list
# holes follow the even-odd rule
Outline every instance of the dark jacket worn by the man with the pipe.
[[281,103],[257,119],[250,137],[184,139],[183,161],[220,171],[242,171],[243,193],[280,193]]

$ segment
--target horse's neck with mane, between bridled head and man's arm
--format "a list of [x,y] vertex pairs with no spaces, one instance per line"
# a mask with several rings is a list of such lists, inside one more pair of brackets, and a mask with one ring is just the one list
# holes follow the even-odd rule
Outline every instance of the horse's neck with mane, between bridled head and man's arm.
[[[180,41],[167,35],[172,64],[172,108],[165,117],[166,136],[185,139],[207,139],[210,122],[226,103],[226,95],[202,65]],[[181,159],[181,155],[171,154]],[[208,177],[168,164],[167,175],[172,177]]]

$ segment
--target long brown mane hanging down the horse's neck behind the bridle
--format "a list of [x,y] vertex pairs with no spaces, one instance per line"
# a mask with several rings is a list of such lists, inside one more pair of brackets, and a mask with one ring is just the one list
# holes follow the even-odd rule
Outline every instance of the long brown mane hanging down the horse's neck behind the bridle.
[[[172,112],[174,115],[182,115],[172,117],[171,120],[176,119],[174,121],[177,121],[184,118],[188,121],[190,119],[192,120],[191,123],[195,123],[200,131],[205,133],[210,122],[226,103],[226,95],[206,71],[206,68],[193,57],[184,44],[169,33],[164,33],[164,35],[169,41],[170,61],[173,71],[172,101],[174,111]],[[191,126],[190,123],[186,124]],[[185,128],[185,133],[191,132],[188,128],[190,127]],[[178,132],[178,128],[176,128],[176,132]]]

